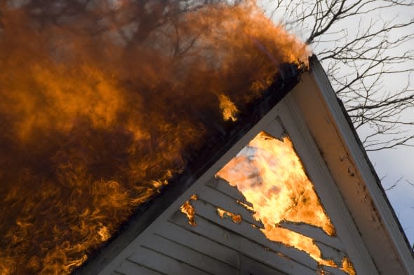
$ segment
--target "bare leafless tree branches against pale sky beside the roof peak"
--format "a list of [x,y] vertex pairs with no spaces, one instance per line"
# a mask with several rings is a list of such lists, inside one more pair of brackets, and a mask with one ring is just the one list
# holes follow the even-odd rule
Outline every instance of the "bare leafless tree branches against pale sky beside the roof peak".
[[312,46],[367,151],[414,146],[414,1],[269,0],[263,6]]

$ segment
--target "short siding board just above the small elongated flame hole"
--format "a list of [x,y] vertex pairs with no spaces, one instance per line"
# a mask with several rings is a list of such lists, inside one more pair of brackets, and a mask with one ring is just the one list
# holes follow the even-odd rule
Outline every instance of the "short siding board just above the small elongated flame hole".
[[232,197],[229,197],[222,192],[218,192],[218,190],[215,190],[208,185],[203,186],[203,188],[201,188],[199,193],[196,195],[204,202],[208,202],[208,204],[215,206],[215,209],[220,207],[226,211],[239,214],[243,220],[246,220],[246,222],[263,228],[262,223],[253,218],[253,213],[251,211],[246,209],[241,204],[238,204]]

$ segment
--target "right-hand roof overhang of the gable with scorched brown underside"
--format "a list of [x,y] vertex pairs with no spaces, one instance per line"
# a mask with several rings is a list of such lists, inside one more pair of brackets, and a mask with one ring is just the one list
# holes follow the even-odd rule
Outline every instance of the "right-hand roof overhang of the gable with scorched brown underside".
[[[305,93],[294,90],[291,94],[338,184],[375,265],[382,274],[414,274],[413,251],[356,131],[316,58],[311,59],[310,69],[316,89],[309,86]],[[326,127],[330,127],[331,132],[327,132]],[[396,270],[399,273],[389,273]]]

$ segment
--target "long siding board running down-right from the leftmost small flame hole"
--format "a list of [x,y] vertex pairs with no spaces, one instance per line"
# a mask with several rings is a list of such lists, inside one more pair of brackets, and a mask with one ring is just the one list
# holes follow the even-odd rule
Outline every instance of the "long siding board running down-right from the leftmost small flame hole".
[[196,223],[198,217],[203,217],[210,223],[225,227],[229,232],[240,234],[251,241],[254,241],[261,246],[271,248],[274,251],[280,252],[290,258],[302,262],[303,265],[307,265],[312,269],[316,269],[317,263],[307,253],[299,251],[296,248],[284,246],[283,244],[275,241],[270,241],[265,237],[258,228],[253,227],[251,224],[242,221],[240,224],[234,223],[230,218],[220,218],[218,213],[215,211],[215,207],[206,202],[196,201],[194,202],[194,208],[196,209]]

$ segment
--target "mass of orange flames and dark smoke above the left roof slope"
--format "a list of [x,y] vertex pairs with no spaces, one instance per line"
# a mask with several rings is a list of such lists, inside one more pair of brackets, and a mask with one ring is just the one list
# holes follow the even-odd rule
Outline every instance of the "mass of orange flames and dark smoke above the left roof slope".
[[232,123],[220,99],[243,111],[307,59],[252,1],[52,2],[0,3],[5,275],[81,265]]

